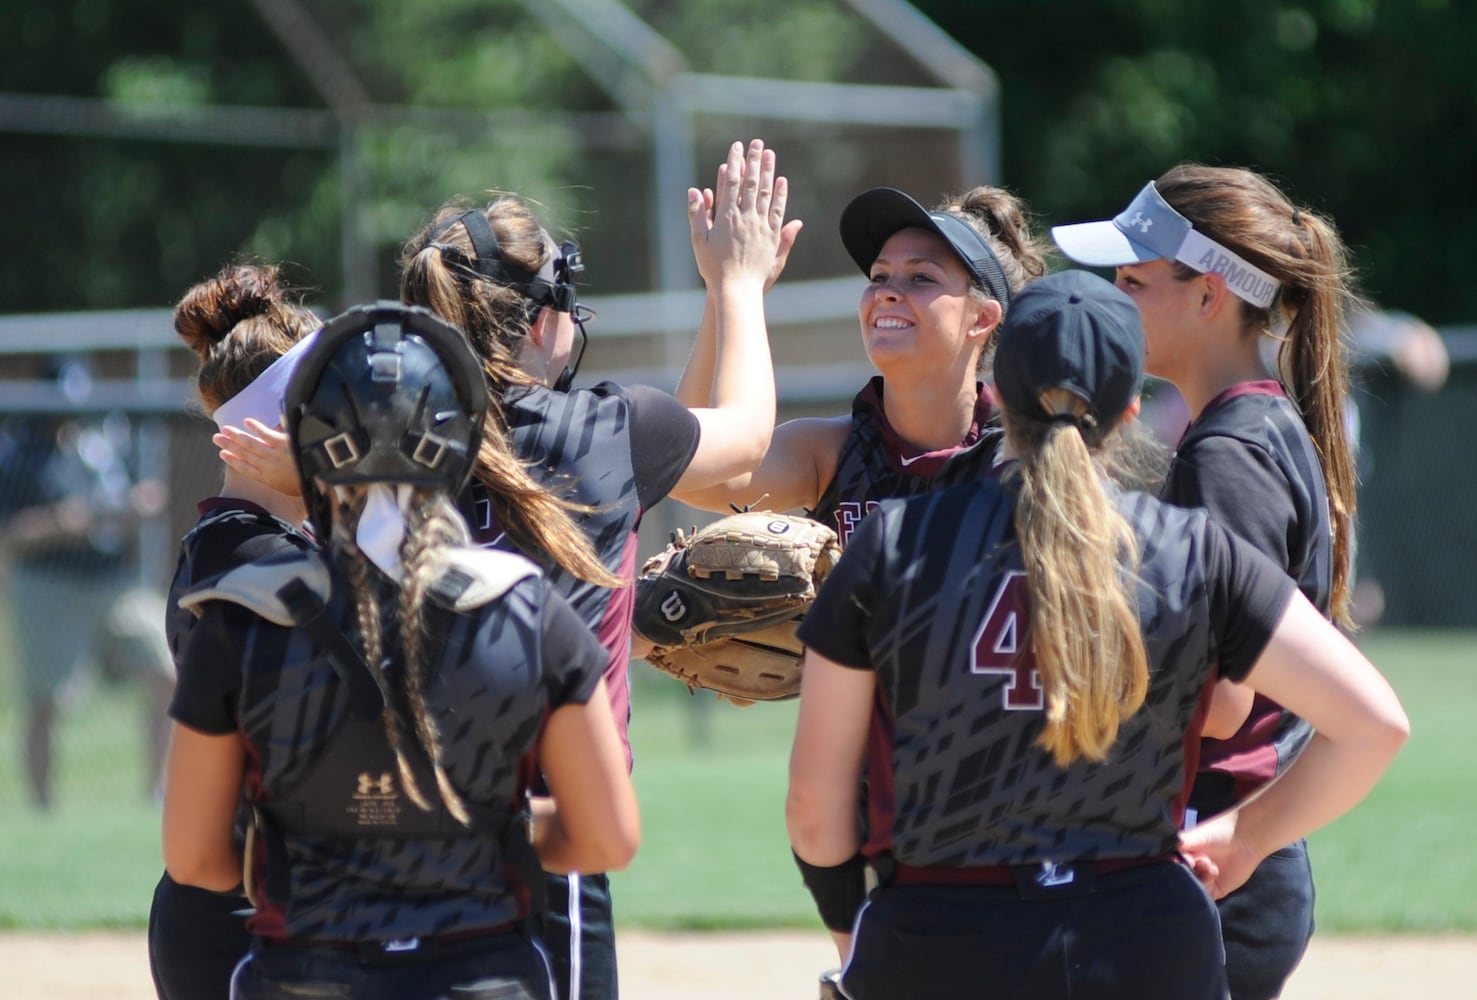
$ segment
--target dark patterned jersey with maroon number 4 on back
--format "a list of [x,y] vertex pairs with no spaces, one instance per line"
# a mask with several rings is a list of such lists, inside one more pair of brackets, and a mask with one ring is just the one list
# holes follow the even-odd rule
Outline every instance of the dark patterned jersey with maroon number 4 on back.
[[1202,511],[1118,496],[1142,548],[1143,708],[1102,764],[1035,746],[1043,696],[1027,631],[1013,492],[998,479],[885,501],[801,628],[877,672],[863,851],[917,867],[1151,858],[1176,849],[1204,693],[1251,669],[1292,583]]

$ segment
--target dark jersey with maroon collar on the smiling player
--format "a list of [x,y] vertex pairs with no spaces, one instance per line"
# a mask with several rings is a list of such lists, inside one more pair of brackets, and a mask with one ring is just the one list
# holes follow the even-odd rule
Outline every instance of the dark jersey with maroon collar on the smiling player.
[[836,476],[821,493],[811,520],[836,529],[840,544],[879,501],[916,496],[990,474],[1001,430],[993,390],[981,384],[975,421],[954,448],[910,455],[882,411],[882,375],[874,375],[851,405],[851,431],[836,461]]

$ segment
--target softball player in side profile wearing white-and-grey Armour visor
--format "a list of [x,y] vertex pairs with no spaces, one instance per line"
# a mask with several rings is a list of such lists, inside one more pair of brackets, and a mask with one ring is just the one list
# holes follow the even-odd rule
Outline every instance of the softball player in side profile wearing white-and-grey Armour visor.
[[[1162,498],[1204,507],[1278,563],[1340,625],[1350,616],[1354,459],[1346,431],[1356,301],[1332,223],[1241,168],[1180,165],[1111,222],[1052,230],[1062,251],[1117,266],[1143,312],[1149,372],[1180,390],[1190,425]],[[1281,344],[1276,362],[1264,347]],[[1190,821],[1244,799],[1312,730],[1251,690],[1216,690]],[[1307,845],[1279,845],[1220,903],[1236,1000],[1282,993],[1313,934]]]

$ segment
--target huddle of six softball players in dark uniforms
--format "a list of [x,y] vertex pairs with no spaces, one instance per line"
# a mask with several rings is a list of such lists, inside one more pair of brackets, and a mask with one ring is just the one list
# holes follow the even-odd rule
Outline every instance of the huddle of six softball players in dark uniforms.
[[[1279,996],[1313,931],[1303,838],[1408,733],[1338,628],[1337,230],[1251,171],[1176,167],[1053,230],[1109,282],[1053,272],[1003,189],[863,192],[840,238],[877,375],[775,425],[787,198],[759,140],[688,191],[706,304],[674,393],[575,386],[583,260],[515,195],[434,211],[399,301],[323,323],[254,264],[180,300],[225,468],[168,600],[161,1000],[614,999],[631,659],[725,663],[775,625],[795,645],[750,644],[795,669],[736,690],[799,688],[786,824],[837,947],[823,997]],[[1173,458],[1146,375],[1190,409]],[[637,585],[666,496],[775,511],[737,532],[756,561],[662,561],[709,619],[705,581],[772,578],[792,517],[821,526],[793,532],[803,585],[684,632],[678,589]]]

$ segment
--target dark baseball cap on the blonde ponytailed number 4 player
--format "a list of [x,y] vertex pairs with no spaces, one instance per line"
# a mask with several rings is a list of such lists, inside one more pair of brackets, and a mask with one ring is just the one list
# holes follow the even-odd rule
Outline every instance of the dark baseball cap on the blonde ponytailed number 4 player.
[[995,343],[995,393],[1009,409],[1046,419],[1041,393],[1065,388],[1103,424],[1142,386],[1143,319],[1112,282],[1060,270],[1021,290]]

